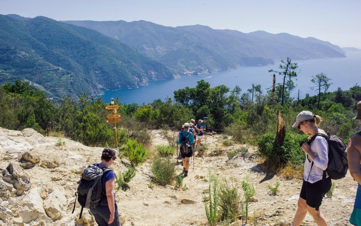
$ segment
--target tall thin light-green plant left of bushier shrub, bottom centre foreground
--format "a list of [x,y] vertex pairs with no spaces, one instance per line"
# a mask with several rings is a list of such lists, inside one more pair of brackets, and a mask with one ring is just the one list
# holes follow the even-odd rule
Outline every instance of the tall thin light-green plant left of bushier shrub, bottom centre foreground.
[[205,214],[210,226],[218,224],[221,214],[218,209],[219,185],[216,171],[208,169],[209,202],[205,202]]

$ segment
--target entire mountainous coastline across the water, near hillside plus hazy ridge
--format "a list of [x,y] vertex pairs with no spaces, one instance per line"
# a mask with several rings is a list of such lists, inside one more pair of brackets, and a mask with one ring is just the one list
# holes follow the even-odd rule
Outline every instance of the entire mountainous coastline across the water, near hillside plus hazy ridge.
[[175,75],[274,64],[286,57],[345,55],[337,45],[287,33],[0,15],[0,84],[28,80],[49,97],[132,88]]

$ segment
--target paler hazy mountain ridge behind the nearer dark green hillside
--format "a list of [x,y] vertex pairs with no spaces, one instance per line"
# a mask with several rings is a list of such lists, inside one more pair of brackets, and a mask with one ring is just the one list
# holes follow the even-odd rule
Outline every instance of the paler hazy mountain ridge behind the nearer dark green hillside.
[[203,25],[166,27],[147,21],[62,21],[120,40],[178,73],[206,73],[274,60],[345,57],[337,45],[287,33],[216,30]]

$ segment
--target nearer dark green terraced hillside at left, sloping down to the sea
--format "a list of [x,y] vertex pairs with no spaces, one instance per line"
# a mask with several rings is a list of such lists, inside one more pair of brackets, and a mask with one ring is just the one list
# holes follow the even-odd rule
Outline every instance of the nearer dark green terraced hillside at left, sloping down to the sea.
[[0,15],[0,84],[30,81],[48,97],[172,78],[161,63],[115,39],[46,17]]

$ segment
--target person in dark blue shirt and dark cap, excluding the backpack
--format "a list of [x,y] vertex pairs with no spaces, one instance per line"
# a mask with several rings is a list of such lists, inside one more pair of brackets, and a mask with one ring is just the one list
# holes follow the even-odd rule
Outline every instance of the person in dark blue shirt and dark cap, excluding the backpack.
[[[116,151],[112,148],[105,148],[101,154],[101,162],[96,164],[100,169],[109,168],[117,159]],[[90,209],[95,221],[99,226],[120,226],[118,206],[115,201],[114,184],[115,175],[113,170],[107,171],[101,177],[104,196],[100,204]]]

